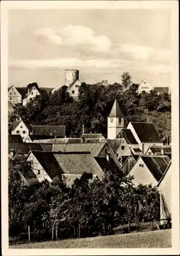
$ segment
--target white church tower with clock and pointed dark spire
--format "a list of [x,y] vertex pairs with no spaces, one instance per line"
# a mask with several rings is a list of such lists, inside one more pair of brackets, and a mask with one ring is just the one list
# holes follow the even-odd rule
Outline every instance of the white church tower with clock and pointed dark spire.
[[107,139],[116,139],[119,132],[126,128],[126,120],[119,108],[117,99],[107,117]]

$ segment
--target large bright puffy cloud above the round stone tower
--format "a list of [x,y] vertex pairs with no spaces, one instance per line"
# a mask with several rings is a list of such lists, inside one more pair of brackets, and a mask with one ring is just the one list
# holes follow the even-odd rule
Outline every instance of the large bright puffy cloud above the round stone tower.
[[[79,47],[84,50],[95,52],[107,52],[111,46],[111,41],[104,35],[95,35],[95,32],[84,26],[72,26],[53,30],[51,28],[36,29],[32,32],[41,44],[51,44],[56,46]],[[81,49],[82,50],[82,49]]]

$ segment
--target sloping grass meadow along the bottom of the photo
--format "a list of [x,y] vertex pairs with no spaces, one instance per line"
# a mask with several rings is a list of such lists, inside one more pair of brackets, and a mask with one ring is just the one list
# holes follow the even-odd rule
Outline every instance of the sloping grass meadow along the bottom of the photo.
[[170,248],[171,229],[116,234],[94,238],[57,240],[10,245],[16,249],[45,248]]

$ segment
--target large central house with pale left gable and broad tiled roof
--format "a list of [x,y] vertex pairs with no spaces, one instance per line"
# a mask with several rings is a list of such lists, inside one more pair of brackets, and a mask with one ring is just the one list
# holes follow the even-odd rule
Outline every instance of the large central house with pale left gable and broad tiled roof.
[[39,182],[53,181],[56,176],[71,186],[84,172],[94,179],[102,179],[103,171],[90,152],[40,152],[31,151],[27,156]]

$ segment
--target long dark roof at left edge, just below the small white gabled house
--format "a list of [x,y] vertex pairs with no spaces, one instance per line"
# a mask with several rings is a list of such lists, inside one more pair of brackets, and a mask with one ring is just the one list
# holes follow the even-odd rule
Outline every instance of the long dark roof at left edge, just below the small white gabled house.
[[28,155],[30,150],[42,151],[42,147],[39,143],[8,143],[8,154],[11,150],[15,150],[15,155]]

